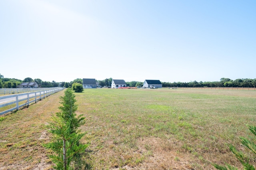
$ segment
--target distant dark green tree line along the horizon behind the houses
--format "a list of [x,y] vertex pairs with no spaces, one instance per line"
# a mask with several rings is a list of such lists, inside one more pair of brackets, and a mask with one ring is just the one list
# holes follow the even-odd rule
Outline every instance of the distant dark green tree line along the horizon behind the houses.
[[[112,78],[106,78],[105,80],[96,80],[98,82],[98,85],[104,87],[104,86],[111,86],[112,84]],[[40,78],[32,79],[32,78],[25,78],[23,81],[16,79],[16,78],[4,78],[3,75],[0,74],[0,88],[16,88],[16,86],[20,85],[22,82],[37,82],[39,87],[72,87],[72,84],[74,83],[80,83],[83,84],[82,78],[76,78],[75,80],[71,82],[46,82],[42,81]],[[126,86],[129,87],[141,87],[143,86],[144,82],[138,82],[138,81],[131,81],[126,82]],[[256,86],[256,78],[238,78],[236,80],[231,80],[230,78],[221,78],[220,81],[216,82],[197,82],[190,81],[190,82],[161,82],[162,87],[255,87]]]

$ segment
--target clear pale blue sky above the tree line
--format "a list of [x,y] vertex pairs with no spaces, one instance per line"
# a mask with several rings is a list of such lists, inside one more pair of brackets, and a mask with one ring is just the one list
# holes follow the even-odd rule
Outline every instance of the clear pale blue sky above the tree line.
[[0,0],[0,74],[256,78],[255,0]]

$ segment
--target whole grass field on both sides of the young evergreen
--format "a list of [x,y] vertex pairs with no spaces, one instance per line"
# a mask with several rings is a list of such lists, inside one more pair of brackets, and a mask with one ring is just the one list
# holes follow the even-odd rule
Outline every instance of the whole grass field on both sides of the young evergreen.
[[[49,170],[45,125],[59,111],[58,92],[0,121],[0,170]],[[81,169],[210,170],[211,162],[242,168],[227,143],[248,152],[239,136],[256,141],[256,91],[85,89],[75,93],[84,114]],[[255,155],[248,156],[256,165]],[[253,157],[254,156],[254,157]]]

